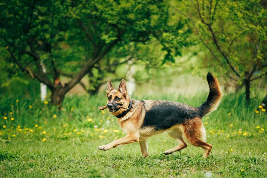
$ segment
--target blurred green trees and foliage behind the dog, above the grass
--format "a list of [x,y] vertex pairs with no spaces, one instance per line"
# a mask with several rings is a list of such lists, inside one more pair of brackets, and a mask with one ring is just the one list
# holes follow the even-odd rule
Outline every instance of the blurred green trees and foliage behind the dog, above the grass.
[[[62,106],[110,78],[130,94],[266,96],[266,1],[1,1],[0,92]],[[266,97],[265,97],[266,98]],[[153,98],[151,98],[153,99]]]

